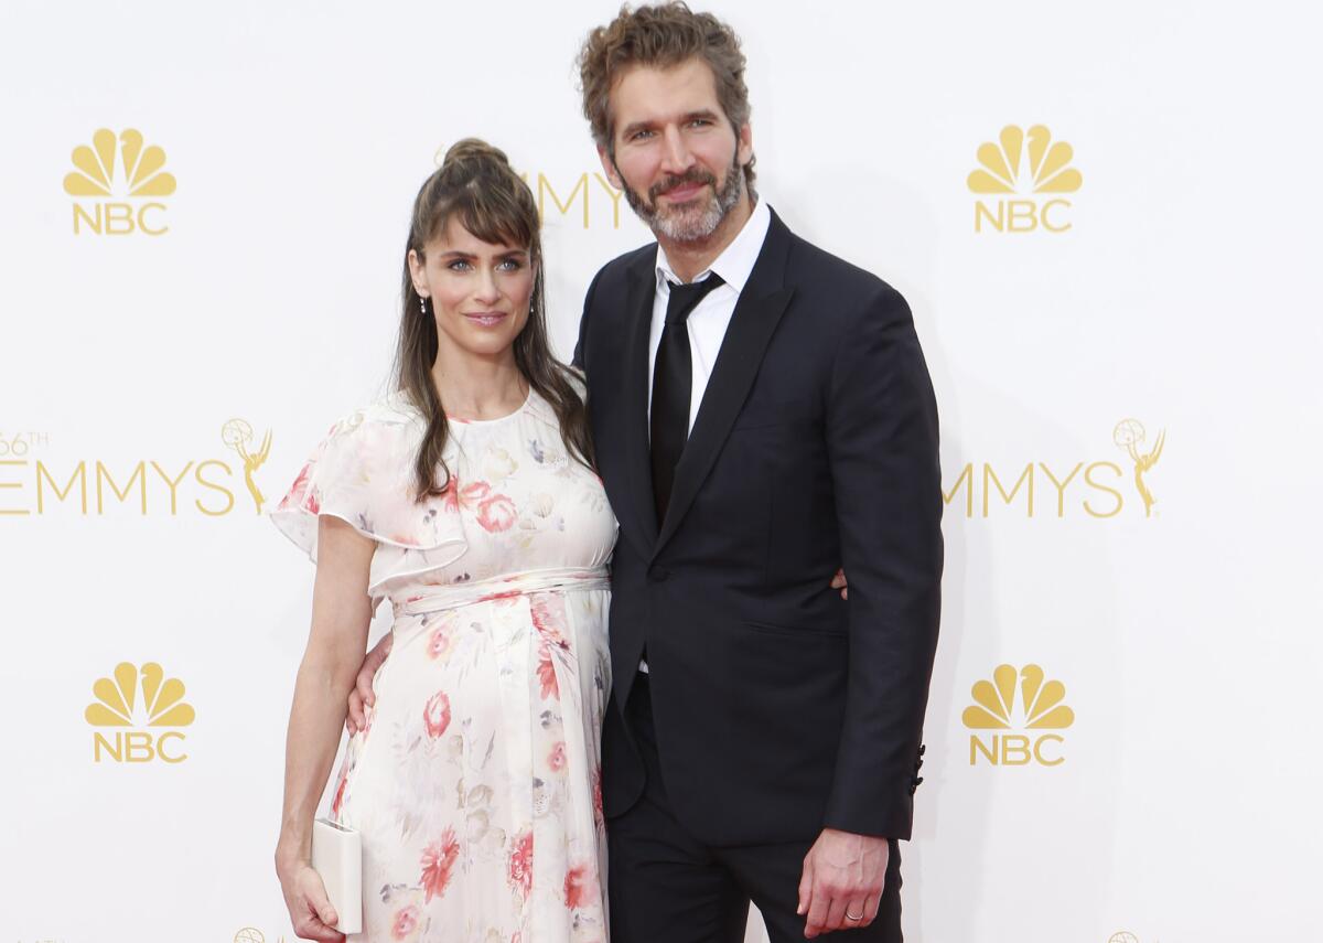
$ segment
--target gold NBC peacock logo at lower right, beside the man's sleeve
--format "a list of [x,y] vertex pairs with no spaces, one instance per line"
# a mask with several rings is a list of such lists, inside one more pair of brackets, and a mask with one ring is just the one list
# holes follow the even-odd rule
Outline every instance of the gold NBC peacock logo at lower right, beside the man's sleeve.
[[[1065,756],[1060,746],[1061,734],[1043,732],[1066,730],[1074,723],[1074,711],[1065,703],[1066,686],[1048,681],[1037,665],[1016,670],[1013,665],[998,665],[992,679],[974,682],[974,703],[964,709],[960,719],[971,731],[970,766],[979,756],[992,766],[1061,766]],[[1019,698],[1016,697],[1019,695]],[[1033,735],[1002,731],[1027,730]]]

